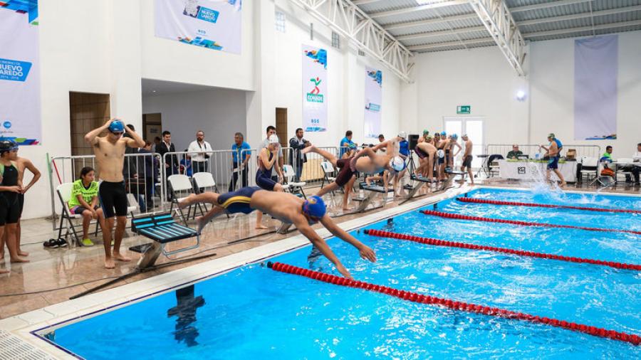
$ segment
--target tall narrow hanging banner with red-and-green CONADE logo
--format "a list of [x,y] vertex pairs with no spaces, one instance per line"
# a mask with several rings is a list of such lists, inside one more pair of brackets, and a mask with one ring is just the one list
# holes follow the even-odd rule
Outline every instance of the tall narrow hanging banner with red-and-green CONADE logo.
[[327,51],[304,45],[303,128],[327,131]]

